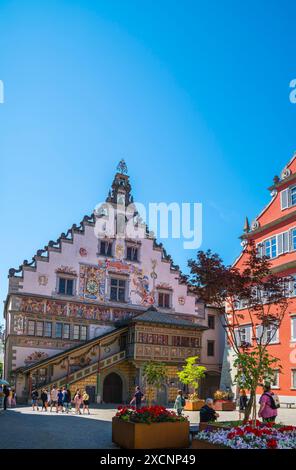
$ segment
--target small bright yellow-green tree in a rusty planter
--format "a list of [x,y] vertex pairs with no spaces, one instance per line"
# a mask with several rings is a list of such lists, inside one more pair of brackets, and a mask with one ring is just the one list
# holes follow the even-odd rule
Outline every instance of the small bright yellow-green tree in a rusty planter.
[[188,395],[186,400],[184,407],[186,411],[200,410],[205,404],[205,401],[199,398],[197,390],[199,382],[205,377],[205,371],[207,369],[203,366],[199,366],[197,360],[198,356],[188,357],[182,370],[177,373],[180,382],[194,389],[194,393]]

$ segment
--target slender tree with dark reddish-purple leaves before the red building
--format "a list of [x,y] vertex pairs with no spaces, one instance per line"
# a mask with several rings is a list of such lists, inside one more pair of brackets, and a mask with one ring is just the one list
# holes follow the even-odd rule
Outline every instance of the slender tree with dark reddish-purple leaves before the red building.
[[[216,253],[199,251],[196,260],[189,260],[191,291],[221,312],[227,341],[236,356],[236,383],[250,391],[245,417],[256,414],[256,389],[270,375],[278,360],[268,353],[290,308],[290,276],[279,276],[272,270],[267,256],[258,256],[254,241],[244,247],[241,269],[227,266]],[[250,325],[250,338],[245,340],[241,323]]]

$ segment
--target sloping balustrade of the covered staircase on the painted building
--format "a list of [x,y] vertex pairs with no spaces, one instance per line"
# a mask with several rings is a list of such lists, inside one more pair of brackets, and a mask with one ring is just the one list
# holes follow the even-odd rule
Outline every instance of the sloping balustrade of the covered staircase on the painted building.
[[106,357],[105,359],[102,359],[99,363],[99,366],[98,366],[98,363],[96,362],[95,364],[90,364],[88,366],[83,367],[82,369],[79,369],[79,370],[73,372],[69,376],[65,375],[65,376],[61,377],[60,379],[56,379],[56,380],[53,380],[51,382],[47,382],[47,383],[43,384],[41,387],[39,387],[37,389],[38,393],[40,395],[41,390],[43,388],[46,388],[47,390],[49,390],[53,385],[56,385],[58,388],[66,386],[66,384],[71,385],[71,383],[76,382],[77,380],[81,380],[81,379],[87,377],[88,375],[91,375],[91,374],[97,372],[98,369],[100,371],[103,370],[103,369],[107,369],[108,367],[111,367],[114,364],[118,364],[119,362],[124,361],[125,358],[126,358],[126,352],[125,351],[119,351],[119,352],[113,354],[112,356],[109,356],[109,357]]

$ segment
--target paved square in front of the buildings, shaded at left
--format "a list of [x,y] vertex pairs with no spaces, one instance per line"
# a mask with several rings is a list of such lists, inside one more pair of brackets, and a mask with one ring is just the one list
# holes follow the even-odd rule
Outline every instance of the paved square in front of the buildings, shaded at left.
[[[32,411],[29,406],[0,412],[0,449],[115,449],[111,421],[115,408],[100,407],[90,416]],[[186,412],[190,423],[198,412]],[[238,412],[220,412],[219,421],[238,419]],[[278,421],[296,425],[296,409],[279,410]]]

